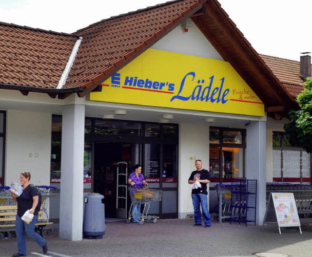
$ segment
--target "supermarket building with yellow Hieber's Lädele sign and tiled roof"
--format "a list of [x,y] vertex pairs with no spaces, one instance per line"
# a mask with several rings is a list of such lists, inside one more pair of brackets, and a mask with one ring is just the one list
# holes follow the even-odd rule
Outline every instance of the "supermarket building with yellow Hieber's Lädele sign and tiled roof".
[[0,183],[29,170],[34,184],[57,186],[50,216],[60,237],[82,239],[83,193],[103,194],[106,216],[126,215],[118,172],[137,163],[163,191],[150,211],[161,218],[192,214],[187,181],[201,159],[210,208],[216,183],[257,179],[263,223],[266,182],[278,177],[273,158],[289,154],[273,149],[272,133],[298,107],[290,88],[302,90],[304,78],[283,84],[276,62],[216,0],[172,1],[73,34],[0,23],[0,35],[0,88],[9,89],[0,96]]

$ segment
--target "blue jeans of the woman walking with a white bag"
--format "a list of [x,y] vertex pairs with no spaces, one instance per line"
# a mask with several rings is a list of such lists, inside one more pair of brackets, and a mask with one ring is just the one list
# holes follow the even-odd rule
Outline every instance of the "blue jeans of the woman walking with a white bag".
[[37,219],[38,215],[34,215],[33,220],[29,224],[27,224],[21,219],[19,215],[16,215],[15,233],[17,236],[18,249],[20,254],[26,255],[27,253],[24,230],[26,231],[27,236],[35,240],[39,244],[39,246],[43,247],[46,243],[45,239],[35,232],[35,224],[37,222]]

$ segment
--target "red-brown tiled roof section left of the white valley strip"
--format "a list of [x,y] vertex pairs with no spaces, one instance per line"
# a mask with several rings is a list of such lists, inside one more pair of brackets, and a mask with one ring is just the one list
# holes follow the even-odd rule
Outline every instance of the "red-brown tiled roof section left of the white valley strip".
[[55,88],[77,36],[0,22],[0,84]]

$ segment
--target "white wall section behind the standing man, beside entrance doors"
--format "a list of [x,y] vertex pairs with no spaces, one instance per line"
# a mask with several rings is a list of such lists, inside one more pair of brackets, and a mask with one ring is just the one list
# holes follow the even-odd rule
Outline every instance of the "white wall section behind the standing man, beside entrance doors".
[[179,124],[179,218],[194,213],[188,179],[196,170],[196,159],[202,160],[204,169],[209,168],[209,126]]

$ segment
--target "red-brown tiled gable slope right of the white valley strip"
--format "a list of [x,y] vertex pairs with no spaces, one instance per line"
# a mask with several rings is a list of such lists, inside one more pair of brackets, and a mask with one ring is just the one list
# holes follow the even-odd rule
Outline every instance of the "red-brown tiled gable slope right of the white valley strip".
[[170,1],[78,30],[83,40],[64,88],[99,84],[194,14],[203,1]]

